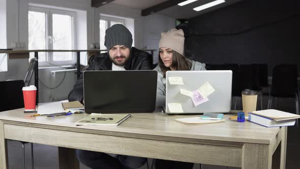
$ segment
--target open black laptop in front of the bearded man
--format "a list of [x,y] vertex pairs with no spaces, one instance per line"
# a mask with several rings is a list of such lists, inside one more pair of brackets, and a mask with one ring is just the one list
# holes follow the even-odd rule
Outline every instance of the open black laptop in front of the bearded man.
[[83,88],[87,114],[153,112],[157,71],[84,71]]

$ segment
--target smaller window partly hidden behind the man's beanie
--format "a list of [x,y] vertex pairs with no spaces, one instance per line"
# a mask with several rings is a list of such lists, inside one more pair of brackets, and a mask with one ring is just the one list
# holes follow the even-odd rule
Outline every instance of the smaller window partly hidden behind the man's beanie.
[[108,29],[108,27],[111,27],[114,24],[125,24],[125,20],[120,18],[100,16],[99,26],[100,26],[100,49],[101,50],[106,49],[106,47],[104,46],[105,31],[106,29]]

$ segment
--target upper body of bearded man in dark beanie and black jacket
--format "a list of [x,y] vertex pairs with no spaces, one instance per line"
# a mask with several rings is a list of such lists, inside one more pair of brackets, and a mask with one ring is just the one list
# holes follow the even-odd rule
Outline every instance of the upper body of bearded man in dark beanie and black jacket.
[[[106,53],[92,58],[85,70],[152,70],[151,54],[132,45],[132,35],[122,24],[114,24],[106,30]],[[83,78],[77,80],[68,96],[69,101],[83,103]]]

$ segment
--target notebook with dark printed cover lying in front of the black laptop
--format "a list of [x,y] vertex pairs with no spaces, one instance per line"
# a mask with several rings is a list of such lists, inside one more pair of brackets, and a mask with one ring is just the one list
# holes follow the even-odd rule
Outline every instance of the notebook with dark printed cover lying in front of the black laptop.
[[96,114],[91,115],[75,122],[76,125],[102,125],[117,126],[130,118],[130,114]]

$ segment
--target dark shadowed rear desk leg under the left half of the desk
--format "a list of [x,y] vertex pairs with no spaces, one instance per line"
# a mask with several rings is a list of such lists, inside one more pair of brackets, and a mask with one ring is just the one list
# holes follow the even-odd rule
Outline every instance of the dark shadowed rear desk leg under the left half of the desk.
[[76,157],[75,149],[58,147],[58,160],[59,169],[79,169],[79,161]]

